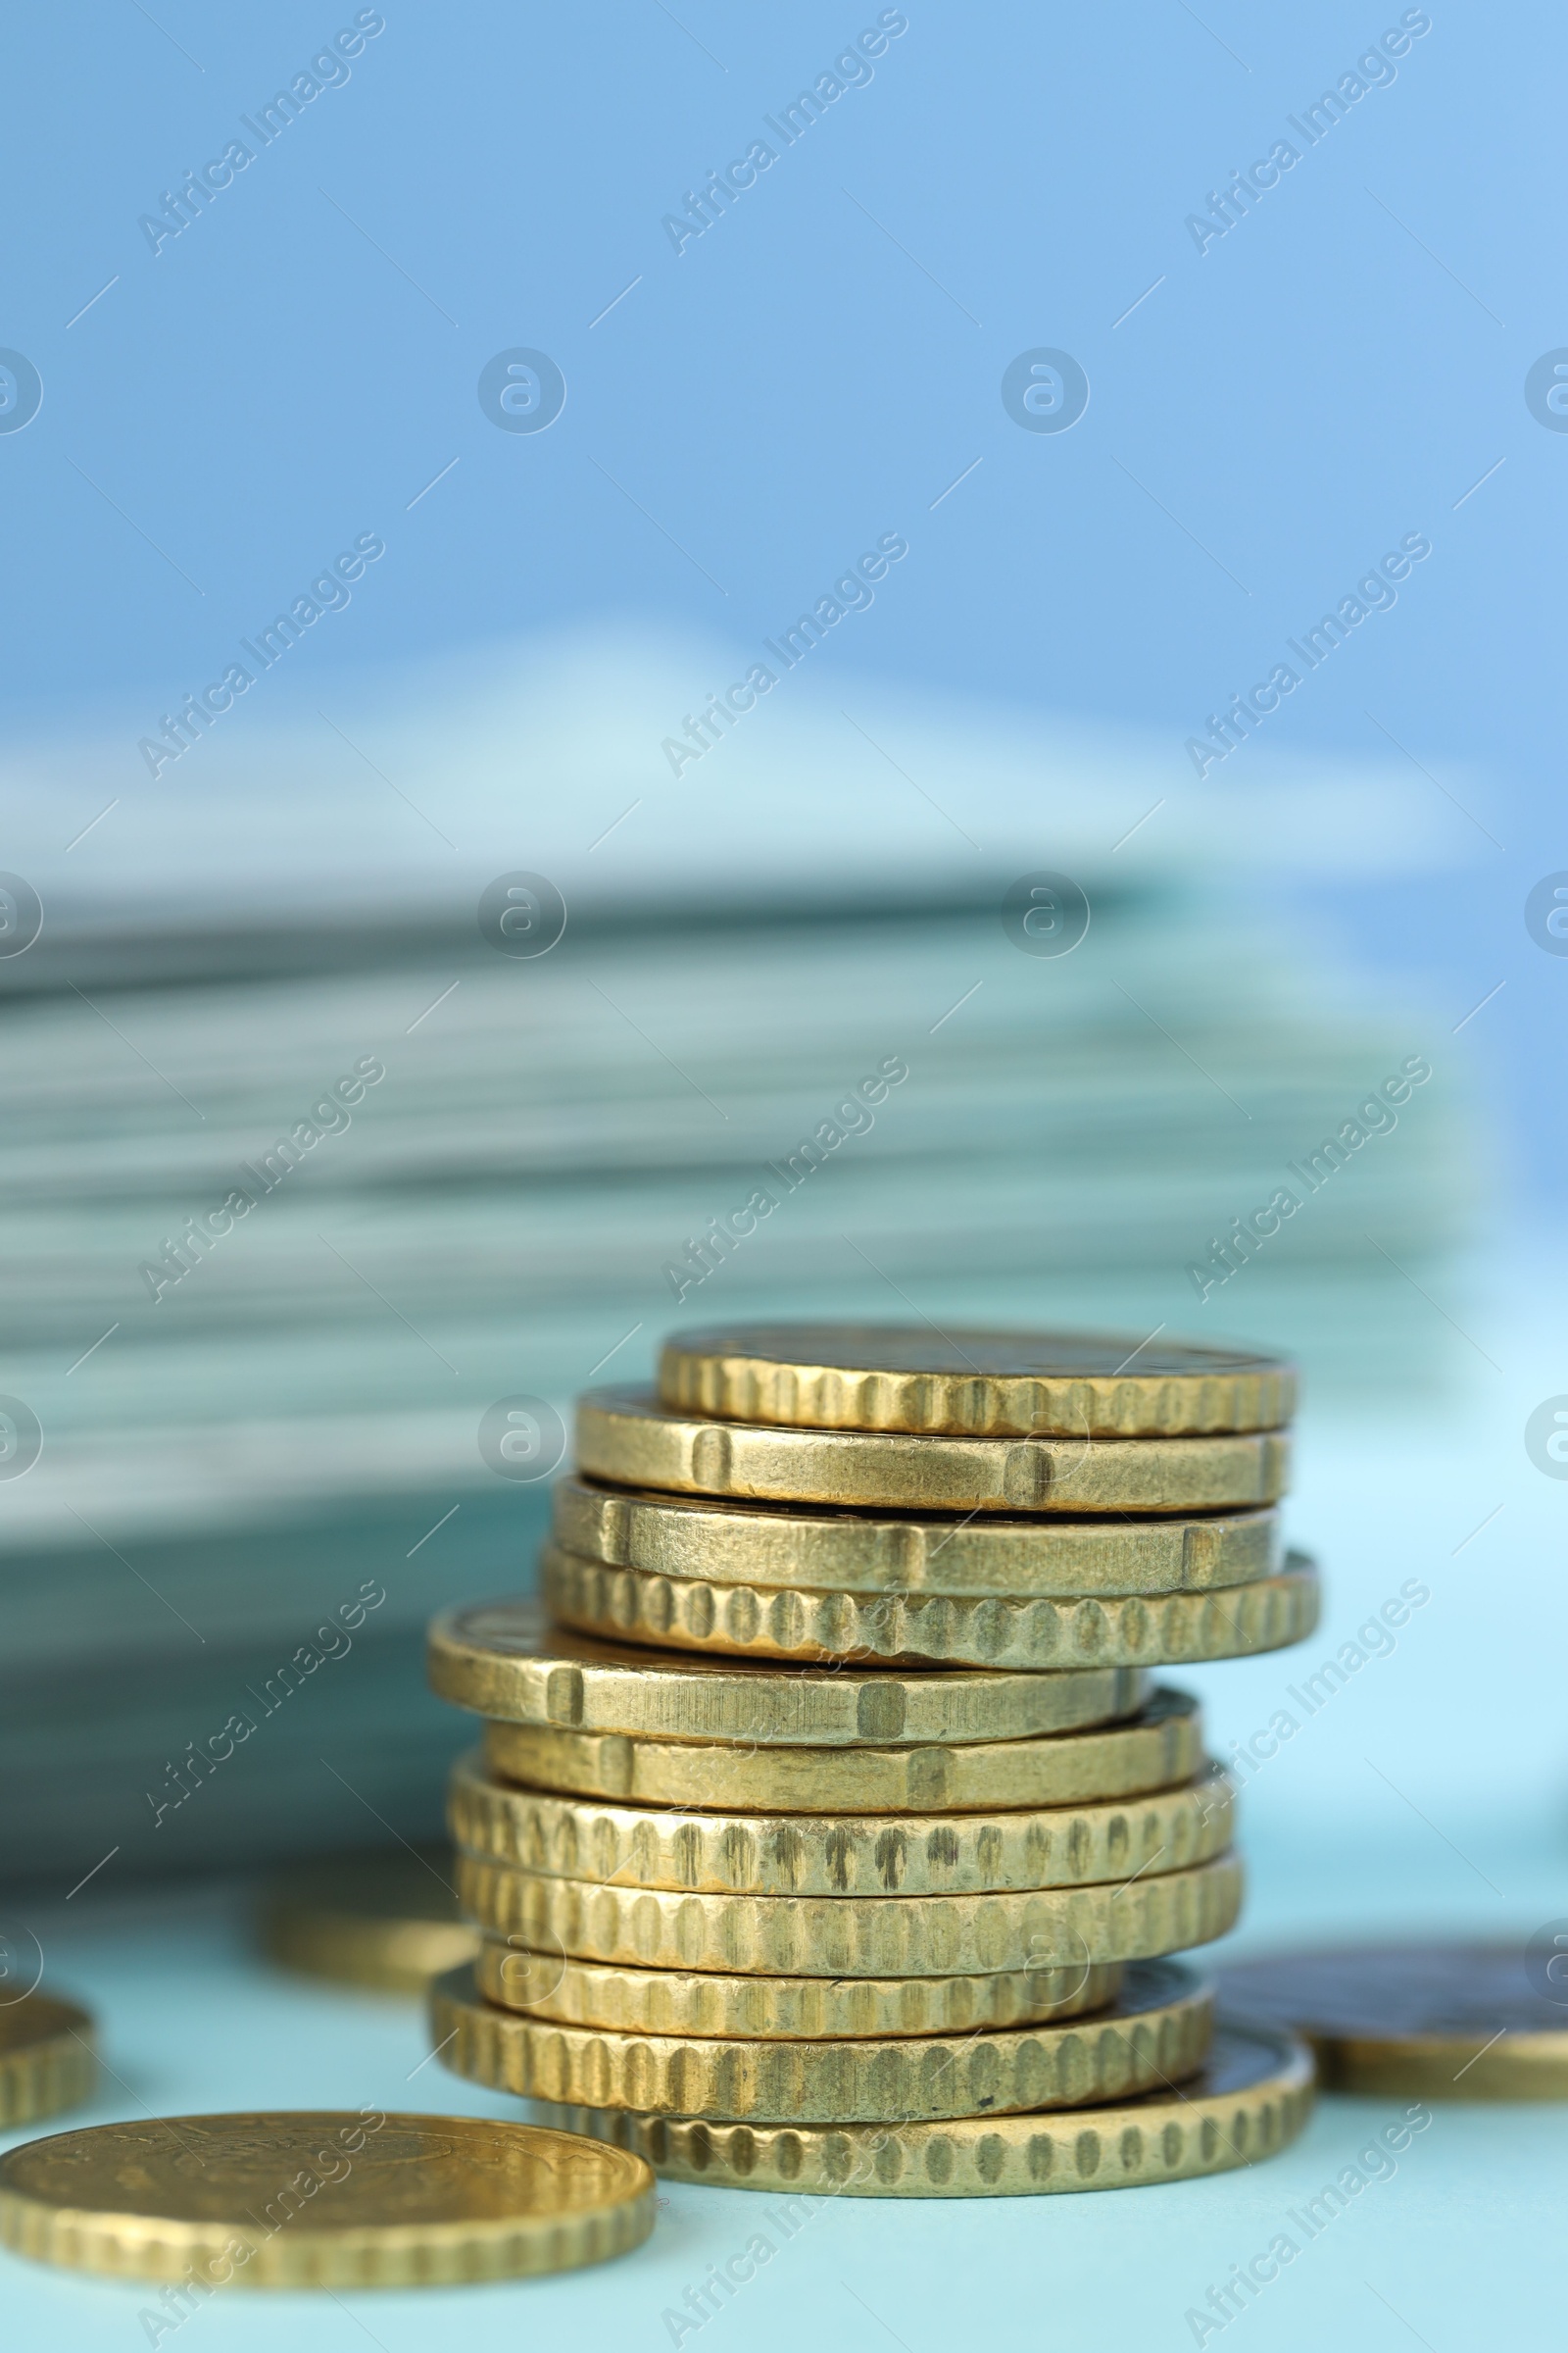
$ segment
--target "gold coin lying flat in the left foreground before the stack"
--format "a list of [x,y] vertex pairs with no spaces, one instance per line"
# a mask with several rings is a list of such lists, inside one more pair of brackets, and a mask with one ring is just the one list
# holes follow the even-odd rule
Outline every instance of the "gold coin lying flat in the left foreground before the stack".
[[0,2242],[202,2289],[517,2280],[642,2245],[654,2177],[616,2158],[475,2115],[139,2118],[0,2158]]

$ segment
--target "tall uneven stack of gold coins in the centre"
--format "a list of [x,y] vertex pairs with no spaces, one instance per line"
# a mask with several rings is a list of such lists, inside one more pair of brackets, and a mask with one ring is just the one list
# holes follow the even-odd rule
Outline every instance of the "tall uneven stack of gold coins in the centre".
[[458,2073],[661,2172],[978,2195],[1251,2162],[1312,2059],[1213,2033],[1234,1788],[1150,1668],[1309,1633],[1286,1365],[693,1332],[578,1405],[543,1602],[440,1619]]

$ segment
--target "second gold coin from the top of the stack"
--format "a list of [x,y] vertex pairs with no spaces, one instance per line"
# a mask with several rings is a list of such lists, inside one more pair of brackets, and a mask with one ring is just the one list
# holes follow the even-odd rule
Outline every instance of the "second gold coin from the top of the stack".
[[1276,1504],[1291,1440],[931,1438],[905,1431],[788,1431],[665,1412],[649,1388],[590,1388],[576,1409],[578,1466],[616,1487],[856,1504],[886,1511],[1222,1511]]

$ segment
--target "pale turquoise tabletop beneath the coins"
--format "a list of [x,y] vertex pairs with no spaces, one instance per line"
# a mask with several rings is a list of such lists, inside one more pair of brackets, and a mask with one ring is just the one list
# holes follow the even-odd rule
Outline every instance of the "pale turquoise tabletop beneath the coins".
[[[1488,1854],[1488,1868],[1497,1866]],[[1563,1875],[1542,1857],[1505,1861],[1514,1918],[1563,1906]],[[1441,1864],[1399,1878],[1387,1866],[1340,1871],[1328,1854],[1253,1864],[1253,1913],[1281,1937],[1359,1932],[1368,1920],[1497,1922],[1453,1906]],[[1486,1889],[1481,1889],[1486,1894]],[[1248,1939],[1255,1941],[1255,1939]],[[61,2122],[146,2111],[428,2108],[517,2115],[425,2061],[416,2002],[292,1981],[247,1948],[242,1906],[172,1904],[167,1918],[59,1948],[54,1981],[87,1995],[108,2021],[103,2097]],[[703,2353],[905,2346],[936,2353],[997,2348],[1192,2346],[1185,2320],[1232,2264],[1260,2254],[1286,2221],[1401,2101],[1319,2101],[1305,2137],[1269,2165],[1154,2191],[994,2200],[830,2200],[733,2304],[701,2332]],[[1568,2113],[1561,2106],[1446,2106],[1345,2214],[1222,2332],[1225,2348],[1399,2348],[1434,2353],[1547,2341],[1561,2313]],[[9,2139],[28,2139],[12,2134]],[[741,2252],[769,2200],[745,2191],[661,2184],[646,2247],[597,2271],[498,2287],[407,2294],[240,2294],[200,2306],[179,2329],[200,2346],[277,2346],[296,2353],[423,2353],[550,2344],[578,2353],[670,2346],[663,2311]],[[776,2202],[776,2200],[771,2200]],[[1295,2233],[1300,2235],[1300,2233]],[[139,2346],[153,2292],[33,2268],[0,2257],[7,2346]],[[160,2344],[172,2344],[162,2337]],[[1218,2334],[1206,2344],[1218,2344]]]

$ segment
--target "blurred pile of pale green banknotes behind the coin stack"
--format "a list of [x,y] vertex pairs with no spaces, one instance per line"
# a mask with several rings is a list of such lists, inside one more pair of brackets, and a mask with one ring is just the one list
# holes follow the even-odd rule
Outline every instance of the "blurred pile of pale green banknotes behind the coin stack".
[[[564,692],[578,734],[524,781],[498,746],[541,741],[534,673],[461,722],[346,704],[353,755],[280,736],[266,838],[256,741],[212,769],[209,835],[148,798],[78,871],[28,819],[45,934],[0,962],[9,1873],[437,1833],[463,1732],[421,1633],[520,1581],[555,1468],[484,1438],[494,1409],[548,1433],[646,1379],[672,1320],[1267,1332],[1314,1400],[1420,1377],[1415,1280],[1469,1184],[1453,1073],[1408,1007],[1326,986],[1211,849],[1225,805],[1143,824],[1166,772],[1135,753],[867,696],[867,741],[802,704],[639,838],[628,711],[665,708],[661,675],[597,715]],[[407,828],[376,859],[355,758]],[[1248,840],[1312,864],[1352,798],[1286,781]],[[757,871],[773,896],[738,894]]]

